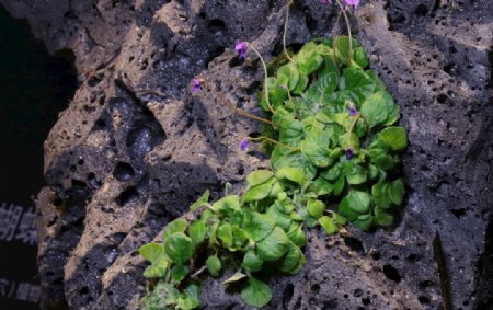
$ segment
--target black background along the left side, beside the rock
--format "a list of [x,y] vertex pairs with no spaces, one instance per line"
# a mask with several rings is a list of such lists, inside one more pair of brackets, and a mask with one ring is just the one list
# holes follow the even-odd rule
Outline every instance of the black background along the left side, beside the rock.
[[[69,51],[48,55],[32,36],[27,23],[12,19],[0,5],[0,208],[3,205],[3,210],[15,205],[22,206],[22,215],[34,211],[33,199],[45,185],[43,141],[77,88],[73,60]],[[0,309],[38,309],[33,301],[38,290],[36,251],[37,244],[18,238],[0,239]],[[31,290],[28,296],[26,287]]]

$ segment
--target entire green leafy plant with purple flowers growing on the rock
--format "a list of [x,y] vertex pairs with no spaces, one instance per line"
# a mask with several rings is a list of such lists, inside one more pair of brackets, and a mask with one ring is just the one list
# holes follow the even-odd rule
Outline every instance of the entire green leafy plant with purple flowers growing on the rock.
[[[236,46],[240,58],[249,48],[257,53],[243,42]],[[395,175],[406,134],[394,126],[399,106],[366,69],[366,51],[337,36],[309,42],[287,59],[266,77],[260,102],[275,135],[240,143],[242,150],[251,141],[272,143],[272,170],[251,172],[241,195],[209,203],[206,192],[168,223],[163,243],[140,248],[151,263],[145,309],[197,308],[200,282],[225,271],[231,276],[223,285],[246,305],[264,307],[272,299],[268,275],[302,268],[307,228],[333,234],[348,222],[363,230],[392,225],[404,194]],[[193,90],[202,89],[194,79]]]

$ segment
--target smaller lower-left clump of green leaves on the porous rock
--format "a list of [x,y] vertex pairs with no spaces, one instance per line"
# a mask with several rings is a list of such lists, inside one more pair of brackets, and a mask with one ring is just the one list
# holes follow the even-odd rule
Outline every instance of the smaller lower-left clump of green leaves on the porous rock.
[[[204,194],[191,207],[193,219],[170,222],[162,244],[140,248],[140,254],[151,262],[144,275],[151,282],[158,280],[158,285],[167,285],[159,298],[157,287],[151,289],[144,298],[145,308],[152,309],[159,302],[171,305],[172,309],[199,306],[196,296],[188,292],[197,284],[191,274],[200,269],[193,265],[198,261],[197,253],[207,256],[202,269],[214,277],[225,268],[236,271],[223,284],[237,283],[237,287],[242,287],[244,302],[259,308],[272,298],[267,284],[257,277],[264,267],[291,275],[299,272],[306,262],[300,249],[306,236],[300,226],[302,218],[283,192],[283,182],[265,170],[252,172],[246,181],[249,186],[241,196],[229,195],[209,204],[208,193]],[[239,260],[234,262],[232,257]],[[184,286],[187,290],[181,291]],[[179,303],[185,299],[187,303]]]

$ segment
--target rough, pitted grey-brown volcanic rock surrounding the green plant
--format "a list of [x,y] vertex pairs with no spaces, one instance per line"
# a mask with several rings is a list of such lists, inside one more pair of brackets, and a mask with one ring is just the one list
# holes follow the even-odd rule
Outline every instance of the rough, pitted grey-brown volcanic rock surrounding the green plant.
[[[0,0],[49,50],[72,49],[81,85],[45,143],[38,195],[43,307],[135,309],[138,248],[205,188],[265,167],[238,142],[259,130],[221,102],[259,113],[256,57],[279,53],[284,1]],[[466,2],[466,1],[465,1]],[[393,229],[310,232],[308,263],[273,277],[272,309],[491,309],[493,106],[490,1],[363,1],[354,19],[371,69],[402,108],[408,196]],[[332,35],[337,15],[295,1],[287,35]],[[207,81],[199,95],[188,83]],[[207,309],[243,309],[208,279]]]

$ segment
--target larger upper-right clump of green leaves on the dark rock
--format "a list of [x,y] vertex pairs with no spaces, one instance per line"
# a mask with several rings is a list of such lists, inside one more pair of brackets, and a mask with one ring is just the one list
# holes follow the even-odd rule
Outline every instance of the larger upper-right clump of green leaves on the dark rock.
[[272,152],[273,171],[291,181],[286,192],[297,193],[307,226],[328,233],[346,220],[364,230],[390,226],[404,195],[402,180],[389,177],[408,145],[405,130],[394,125],[400,108],[366,69],[359,43],[352,46],[346,36],[310,42],[268,79],[283,143]]

